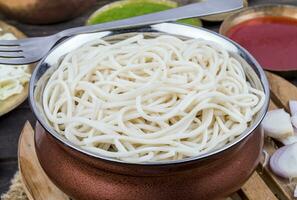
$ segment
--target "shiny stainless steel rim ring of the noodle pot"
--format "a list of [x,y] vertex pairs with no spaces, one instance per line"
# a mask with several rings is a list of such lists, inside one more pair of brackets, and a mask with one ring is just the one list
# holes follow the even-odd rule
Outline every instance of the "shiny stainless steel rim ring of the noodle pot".
[[[269,84],[268,84],[268,80],[266,78],[266,75],[265,75],[263,69],[261,68],[261,66],[258,64],[258,62],[244,48],[242,48],[240,45],[236,44],[232,40],[230,40],[230,39],[228,39],[228,38],[226,38],[226,37],[224,37],[222,35],[219,35],[218,33],[215,33],[215,32],[209,31],[207,29],[203,29],[203,28],[197,28],[197,27],[192,27],[192,26],[182,25],[182,24],[176,24],[176,23],[162,23],[162,24],[156,24],[156,25],[151,25],[151,26],[147,26],[147,27],[141,27],[141,28],[129,29],[129,30],[121,30],[121,31],[113,31],[113,32],[105,31],[105,32],[101,32],[101,33],[98,33],[98,34],[103,35],[103,37],[105,37],[105,36],[111,36],[111,35],[115,35],[115,34],[119,34],[119,33],[129,33],[129,32],[160,32],[160,33],[165,33],[165,34],[174,34],[174,35],[186,36],[186,37],[191,37],[191,36],[200,37],[200,35],[196,34],[197,31],[199,33],[210,35],[211,37],[221,39],[227,45],[229,45],[230,48],[233,48],[234,51],[236,51],[241,57],[243,57],[248,62],[248,64],[250,64],[252,66],[252,68],[254,69],[254,71],[257,74],[259,80],[261,81],[264,93],[266,95],[264,106],[259,111],[259,114],[257,115],[257,118],[255,119],[254,123],[248,129],[246,129],[240,136],[238,136],[235,140],[233,140],[232,142],[226,144],[224,147],[222,147],[220,149],[217,149],[217,150],[205,153],[205,154],[201,154],[199,156],[193,156],[193,157],[189,157],[189,158],[185,158],[185,159],[181,159],[181,160],[150,162],[150,163],[128,163],[128,162],[124,162],[124,161],[121,161],[121,160],[101,156],[99,154],[95,154],[95,153],[86,151],[86,150],[82,149],[81,147],[79,147],[79,146],[77,146],[75,144],[72,144],[65,137],[63,137],[62,135],[60,135],[59,133],[54,131],[53,128],[50,127],[45,122],[45,120],[43,119],[43,117],[41,116],[41,114],[40,114],[40,112],[39,112],[39,110],[37,108],[37,104],[36,104],[35,99],[34,99],[34,90],[35,90],[36,83],[39,80],[40,76],[45,72],[45,71],[40,72],[40,67],[42,65],[47,65],[47,63],[46,63],[47,58],[55,50],[58,50],[58,48],[61,47],[62,44],[64,44],[67,41],[71,41],[71,40],[73,40],[73,38],[78,37],[78,36],[71,37],[71,38],[61,42],[59,45],[57,45],[55,48],[53,48],[47,54],[47,56],[45,56],[38,63],[38,65],[36,66],[36,68],[35,68],[35,70],[34,70],[34,72],[32,74],[31,80],[30,80],[30,88],[29,88],[29,95],[30,95],[29,96],[29,101],[30,101],[31,109],[32,109],[34,115],[36,116],[37,120],[39,121],[39,123],[43,126],[43,128],[48,133],[50,133],[55,139],[57,139],[59,142],[61,142],[63,145],[65,145],[65,146],[67,146],[67,147],[69,147],[71,149],[74,149],[74,150],[76,150],[76,151],[78,151],[78,152],[80,152],[82,154],[91,156],[93,158],[113,162],[115,164],[139,165],[139,166],[174,165],[174,164],[181,164],[181,163],[186,163],[186,162],[191,162],[191,161],[202,160],[202,159],[205,159],[205,158],[209,158],[210,156],[219,154],[219,153],[221,153],[221,152],[235,146],[236,144],[238,144],[242,140],[244,140],[247,136],[249,136],[260,125],[261,121],[263,120],[263,118],[264,118],[264,116],[265,116],[265,114],[267,112],[268,105],[269,105]],[[94,33],[90,33],[90,34],[94,34]],[[40,73],[41,73],[41,75],[40,75]],[[37,79],[37,77],[38,77],[38,79]]]

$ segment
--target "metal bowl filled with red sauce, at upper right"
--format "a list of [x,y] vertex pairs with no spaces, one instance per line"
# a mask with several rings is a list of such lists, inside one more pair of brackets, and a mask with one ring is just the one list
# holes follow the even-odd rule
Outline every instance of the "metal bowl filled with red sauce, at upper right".
[[261,5],[224,20],[220,33],[270,71],[297,71],[297,6]]

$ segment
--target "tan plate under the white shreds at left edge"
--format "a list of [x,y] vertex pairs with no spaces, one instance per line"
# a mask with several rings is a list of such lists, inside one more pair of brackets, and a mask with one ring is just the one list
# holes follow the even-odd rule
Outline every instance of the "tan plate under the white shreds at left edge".
[[[0,21],[0,35],[4,33],[12,33],[16,38],[25,38],[26,36],[19,31],[17,28]],[[32,73],[34,65],[30,65],[29,70]],[[0,116],[13,110],[15,107],[20,105],[27,97],[29,91],[29,83],[24,85],[24,89],[20,94],[13,95],[4,101],[0,100]]]

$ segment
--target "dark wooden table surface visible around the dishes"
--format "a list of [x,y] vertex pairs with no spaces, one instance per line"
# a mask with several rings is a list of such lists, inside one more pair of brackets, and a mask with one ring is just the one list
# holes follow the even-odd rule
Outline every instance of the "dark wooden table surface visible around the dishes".
[[[219,1],[219,0],[218,0]],[[97,0],[96,6],[86,12],[84,15],[77,17],[71,21],[54,24],[54,25],[27,25],[17,21],[7,19],[0,15],[0,19],[12,24],[23,31],[27,36],[45,36],[56,33],[66,28],[83,25],[86,18],[92,11],[108,3],[106,0]],[[182,0],[183,3],[188,3],[188,0]],[[250,5],[259,5],[266,3],[291,4],[297,5],[297,0],[249,0]],[[204,22],[204,27],[217,31],[220,23]],[[290,80],[294,83],[296,79]],[[17,146],[20,131],[26,120],[29,120],[32,125],[35,124],[35,118],[30,110],[28,101],[17,107],[10,113],[0,117],[0,194],[7,191],[10,179],[17,170]]]

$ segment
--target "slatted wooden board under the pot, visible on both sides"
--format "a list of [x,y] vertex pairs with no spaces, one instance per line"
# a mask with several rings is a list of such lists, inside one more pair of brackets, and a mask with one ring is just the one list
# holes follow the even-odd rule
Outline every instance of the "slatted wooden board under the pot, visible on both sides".
[[[270,109],[279,107],[289,112],[288,102],[297,100],[297,88],[278,75],[270,72],[266,74],[271,90]],[[264,149],[269,155],[272,155],[278,147],[279,143],[265,139]],[[29,122],[24,125],[19,138],[18,159],[24,190],[30,200],[69,200],[43,172],[35,152],[34,130]],[[226,200],[297,199],[293,197],[295,184],[274,175],[269,166],[264,166],[263,162],[264,159],[242,188]]]

